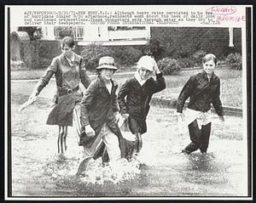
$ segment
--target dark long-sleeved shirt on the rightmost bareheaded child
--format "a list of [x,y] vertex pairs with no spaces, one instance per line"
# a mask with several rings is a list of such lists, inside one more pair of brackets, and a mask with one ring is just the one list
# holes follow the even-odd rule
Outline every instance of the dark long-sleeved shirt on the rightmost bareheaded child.
[[183,105],[189,98],[189,109],[207,112],[211,104],[218,116],[224,116],[224,110],[219,99],[220,82],[218,76],[212,73],[210,81],[205,71],[191,76],[183,87],[177,99],[177,112],[183,112]]

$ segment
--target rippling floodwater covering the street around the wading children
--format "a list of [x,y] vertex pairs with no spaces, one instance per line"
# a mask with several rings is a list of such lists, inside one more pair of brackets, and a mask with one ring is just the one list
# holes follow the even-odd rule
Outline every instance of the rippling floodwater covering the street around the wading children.
[[[208,153],[183,155],[189,144],[186,127],[177,127],[173,109],[151,107],[141,154],[131,162],[102,166],[91,161],[87,176],[74,175],[82,149],[72,127],[67,152],[57,155],[58,127],[45,124],[54,84],[35,104],[19,112],[34,82],[11,86],[11,189],[13,196],[145,197],[246,196],[247,148],[241,117],[215,116]],[[29,90],[29,91],[28,91]]]

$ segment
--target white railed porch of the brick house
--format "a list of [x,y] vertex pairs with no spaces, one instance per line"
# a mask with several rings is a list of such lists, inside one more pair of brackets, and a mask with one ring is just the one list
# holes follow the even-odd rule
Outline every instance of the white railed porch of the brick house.
[[[88,45],[91,42],[103,46],[112,45],[144,45],[150,38],[149,26],[73,26],[66,27],[73,32],[73,38],[78,45]],[[59,40],[62,38],[61,26],[42,27],[42,40]]]

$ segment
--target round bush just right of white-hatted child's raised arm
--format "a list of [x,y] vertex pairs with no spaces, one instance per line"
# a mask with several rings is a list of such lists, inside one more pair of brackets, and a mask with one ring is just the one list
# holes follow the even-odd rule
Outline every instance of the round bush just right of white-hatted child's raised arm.
[[180,72],[180,64],[177,59],[164,58],[157,63],[159,70],[164,75],[177,75]]

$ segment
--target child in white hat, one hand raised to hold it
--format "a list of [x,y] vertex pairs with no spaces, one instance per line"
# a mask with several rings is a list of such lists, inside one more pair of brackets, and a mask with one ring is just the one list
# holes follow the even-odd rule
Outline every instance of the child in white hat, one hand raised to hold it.
[[[155,74],[156,80],[152,77]],[[149,102],[154,93],[166,88],[163,74],[151,56],[143,56],[137,62],[137,72],[119,90],[118,101],[121,115],[128,119],[131,133],[137,137],[137,153],[142,149],[141,135],[147,132],[146,117]]]

